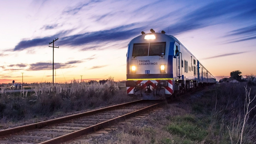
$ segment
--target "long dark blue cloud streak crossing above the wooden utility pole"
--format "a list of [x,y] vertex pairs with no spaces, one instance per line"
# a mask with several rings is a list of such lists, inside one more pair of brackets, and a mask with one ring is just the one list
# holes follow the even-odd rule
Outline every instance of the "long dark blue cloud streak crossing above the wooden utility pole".
[[[35,46],[47,46],[47,43],[50,42],[51,39],[59,37],[58,44],[68,45],[68,46],[80,46],[88,43],[100,43],[100,42],[110,42],[117,40],[129,39],[137,35],[137,32],[143,28],[133,28],[135,24],[123,25],[116,28],[112,28],[109,30],[101,30],[96,32],[89,32],[77,35],[71,35],[60,38],[59,36],[63,36],[70,31],[64,31],[54,36],[43,37],[43,38],[35,38],[31,40],[22,40],[15,46],[15,50],[24,50],[26,48],[35,47]],[[84,48],[83,50],[86,50]]]

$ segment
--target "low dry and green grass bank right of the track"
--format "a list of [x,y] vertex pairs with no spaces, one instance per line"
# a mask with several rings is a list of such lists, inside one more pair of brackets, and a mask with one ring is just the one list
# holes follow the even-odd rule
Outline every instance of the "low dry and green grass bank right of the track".
[[[103,143],[240,143],[245,117],[244,86],[246,83],[222,83],[186,98],[180,97],[174,104],[168,104],[167,109],[123,126],[113,140]],[[251,94],[255,94],[256,88],[250,88]],[[253,101],[250,105],[253,108],[256,103]],[[256,143],[255,133],[255,110],[252,109],[241,143]]]

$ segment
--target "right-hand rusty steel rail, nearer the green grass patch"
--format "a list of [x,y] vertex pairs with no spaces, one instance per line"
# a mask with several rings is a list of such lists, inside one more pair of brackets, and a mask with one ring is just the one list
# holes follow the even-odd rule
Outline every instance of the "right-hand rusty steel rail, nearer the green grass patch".
[[66,135],[63,135],[63,136],[60,136],[60,137],[57,137],[57,138],[54,138],[54,139],[51,139],[51,140],[47,140],[47,141],[44,141],[44,142],[41,142],[39,144],[57,144],[57,143],[62,143],[62,142],[66,142],[66,141],[70,141],[70,140],[73,140],[73,139],[76,139],[76,138],[79,138],[80,136],[82,135],[86,135],[86,134],[89,134],[89,133],[92,133],[94,131],[97,131],[97,130],[100,130],[100,129],[103,129],[105,127],[108,127],[108,126],[111,126],[111,125],[114,125],[120,121],[123,121],[125,119],[128,119],[128,118],[131,118],[131,117],[134,117],[142,112],[145,112],[147,110],[150,110],[154,107],[157,107],[161,104],[163,104],[164,102],[159,102],[157,104],[154,104],[154,105],[151,105],[151,106],[148,106],[148,107],[145,107],[145,108],[142,108],[140,110],[136,110],[134,112],[131,112],[131,113],[128,113],[128,114],[125,114],[123,116],[119,116],[117,118],[113,118],[113,119],[110,119],[110,120],[107,120],[107,121],[104,121],[104,122],[101,122],[99,124],[96,124],[96,125],[93,125],[93,126],[90,126],[90,127],[87,127],[87,128],[84,128],[84,129],[81,129],[81,130],[78,130],[78,131],[74,131],[74,132],[71,132],[69,134],[66,134]]

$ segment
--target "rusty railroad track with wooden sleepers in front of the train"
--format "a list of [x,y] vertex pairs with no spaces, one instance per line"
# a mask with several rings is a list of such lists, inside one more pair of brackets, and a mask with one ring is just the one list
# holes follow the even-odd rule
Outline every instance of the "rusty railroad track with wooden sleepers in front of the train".
[[137,100],[0,131],[0,143],[55,144],[107,128],[163,104]]

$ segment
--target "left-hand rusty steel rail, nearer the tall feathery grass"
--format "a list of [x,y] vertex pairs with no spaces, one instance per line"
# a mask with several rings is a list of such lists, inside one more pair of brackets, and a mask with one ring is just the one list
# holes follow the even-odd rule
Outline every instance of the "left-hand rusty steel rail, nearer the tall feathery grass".
[[119,104],[119,105],[114,105],[114,106],[110,106],[110,107],[106,107],[106,108],[101,108],[101,109],[91,110],[91,111],[87,111],[87,112],[82,112],[80,114],[75,114],[75,115],[70,115],[70,116],[61,117],[61,118],[57,118],[57,119],[37,122],[37,123],[34,123],[34,124],[25,125],[25,126],[0,130],[0,137],[7,136],[7,135],[17,133],[17,132],[21,132],[21,131],[27,131],[27,130],[31,130],[31,129],[41,128],[41,127],[51,125],[51,124],[55,124],[55,123],[58,123],[58,122],[63,122],[63,121],[70,120],[70,119],[80,118],[80,117],[91,115],[91,114],[94,114],[94,113],[97,113],[97,112],[102,112],[102,111],[105,111],[105,110],[110,110],[110,109],[130,105],[130,104],[135,104],[137,102],[142,102],[142,101],[144,101],[144,100],[136,100],[136,101],[127,102],[127,103],[124,103],[124,104]]

